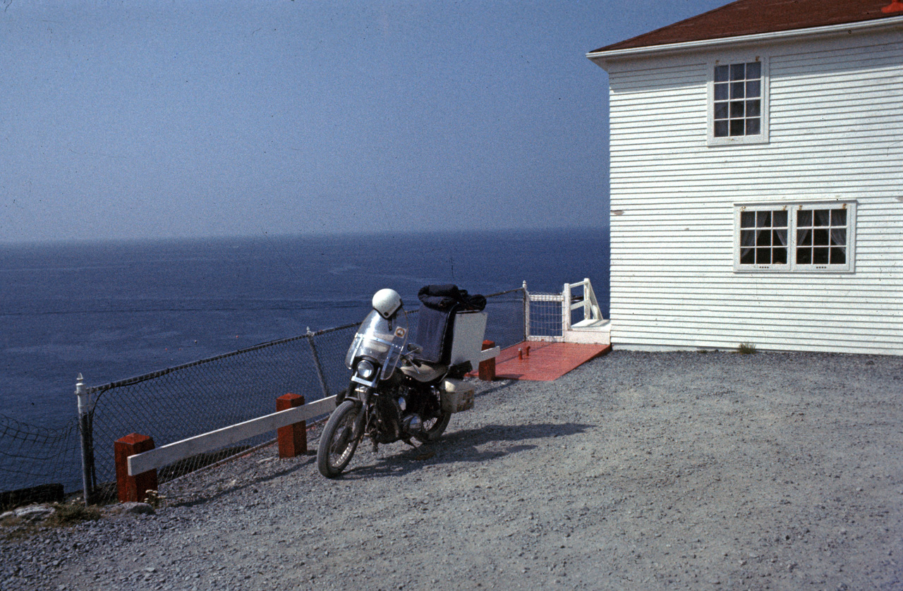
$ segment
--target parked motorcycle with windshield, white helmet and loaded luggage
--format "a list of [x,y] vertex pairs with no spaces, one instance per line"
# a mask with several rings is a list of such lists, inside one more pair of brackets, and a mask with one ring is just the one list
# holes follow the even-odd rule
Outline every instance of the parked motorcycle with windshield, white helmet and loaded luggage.
[[[424,347],[408,342],[407,314],[396,291],[377,291],[372,305],[345,356],[352,371],[349,387],[336,396],[317,449],[317,468],[328,478],[340,476],[365,436],[374,451],[381,443],[401,440],[414,446],[412,439],[439,439],[454,412],[473,406],[473,387],[461,381],[472,369],[471,360],[492,355],[479,351],[486,327],[479,306],[465,305],[455,313],[452,352],[440,360],[446,363],[438,363],[424,360]],[[426,332],[423,310],[418,340]]]

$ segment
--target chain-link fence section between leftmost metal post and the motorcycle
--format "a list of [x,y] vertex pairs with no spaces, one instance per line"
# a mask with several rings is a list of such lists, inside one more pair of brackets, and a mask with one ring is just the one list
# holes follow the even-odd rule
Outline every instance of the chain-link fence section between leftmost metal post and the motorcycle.
[[[343,365],[356,325],[284,338],[223,356],[88,388],[94,499],[116,495],[113,442],[129,433],[149,435],[158,446],[275,412],[275,399],[293,392],[305,402],[339,392],[349,379]],[[272,434],[165,466],[172,480],[272,439]]]

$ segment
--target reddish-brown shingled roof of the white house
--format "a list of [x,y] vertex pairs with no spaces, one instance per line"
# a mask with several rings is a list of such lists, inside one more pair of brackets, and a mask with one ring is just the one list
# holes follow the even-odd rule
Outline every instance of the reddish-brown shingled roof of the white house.
[[890,0],[738,0],[592,53],[903,16],[882,13],[881,8],[889,3]]

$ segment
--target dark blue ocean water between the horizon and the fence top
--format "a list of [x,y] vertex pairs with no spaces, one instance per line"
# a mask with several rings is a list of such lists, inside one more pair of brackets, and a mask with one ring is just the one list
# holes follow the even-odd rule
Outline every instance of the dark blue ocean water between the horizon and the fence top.
[[[0,246],[0,414],[53,428],[87,385],[358,322],[378,289],[561,291],[608,316],[608,229]],[[491,322],[491,319],[490,319]]]

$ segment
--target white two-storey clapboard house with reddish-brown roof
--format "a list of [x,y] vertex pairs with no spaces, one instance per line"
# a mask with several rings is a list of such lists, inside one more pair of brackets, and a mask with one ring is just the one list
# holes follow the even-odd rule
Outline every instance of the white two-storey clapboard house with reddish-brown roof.
[[740,0],[587,57],[612,346],[903,355],[903,5]]

